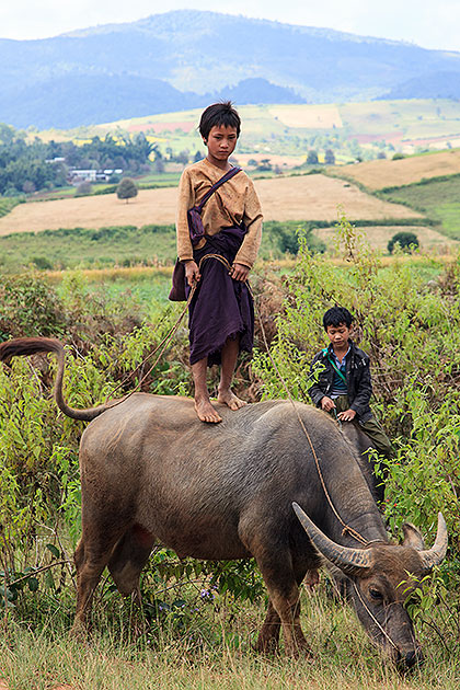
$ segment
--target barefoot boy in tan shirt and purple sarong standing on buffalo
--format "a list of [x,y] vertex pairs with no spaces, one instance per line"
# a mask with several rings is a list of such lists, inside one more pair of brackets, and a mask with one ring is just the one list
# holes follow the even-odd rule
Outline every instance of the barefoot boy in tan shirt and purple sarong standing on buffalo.
[[231,410],[246,404],[234,395],[231,381],[240,350],[252,350],[254,310],[245,281],[261,244],[262,211],[254,185],[242,171],[206,200],[200,214],[204,235],[198,240],[193,233],[191,238],[187,210],[231,171],[229,158],[240,126],[230,102],[204,111],[199,133],[208,153],[185,169],[179,188],[177,256],[185,264],[188,289],[197,285],[188,322],[195,409],[202,422],[210,423],[221,417],[209,399],[208,366],[221,364],[218,402]]

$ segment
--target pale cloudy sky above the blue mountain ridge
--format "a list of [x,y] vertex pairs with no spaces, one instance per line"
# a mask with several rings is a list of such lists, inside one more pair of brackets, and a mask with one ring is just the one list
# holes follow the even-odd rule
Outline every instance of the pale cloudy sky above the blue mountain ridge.
[[0,5],[1,38],[45,38],[169,10],[211,10],[460,50],[460,0],[13,0]]

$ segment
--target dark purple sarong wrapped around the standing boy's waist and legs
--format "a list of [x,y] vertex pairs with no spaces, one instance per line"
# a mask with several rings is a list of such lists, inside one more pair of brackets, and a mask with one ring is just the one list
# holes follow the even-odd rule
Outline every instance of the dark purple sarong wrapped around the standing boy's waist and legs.
[[[225,228],[206,235],[206,244],[194,250],[197,264],[206,254],[220,254],[231,265],[245,234],[243,228]],[[248,286],[229,276],[227,266],[207,258],[200,268],[202,279],[188,309],[191,364],[208,358],[208,366],[220,364],[227,338],[240,336],[240,352],[252,352],[254,304]],[[187,287],[187,295],[189,288]]]

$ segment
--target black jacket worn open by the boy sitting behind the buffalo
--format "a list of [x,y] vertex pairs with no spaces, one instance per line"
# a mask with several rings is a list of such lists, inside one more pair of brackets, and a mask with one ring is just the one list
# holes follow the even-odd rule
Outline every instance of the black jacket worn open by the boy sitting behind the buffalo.
[[[350,350],[346,357],[345,378],[348,387],[348,401],[352,410],[355,410],[360,422],[367,422],[372,416],[369,401],[372,394],[372,384],[370,382],[369,357],[353,341],[349,341]],[[317,361],[324,365],[324,369],[318,375],[318,381],[309,389],[309,394],[313,404],[318,407],[324,395],[330,395],[334,381],[334,368],[329,359],[332,358],[332,345],[325,350],[314,355],[311,363],[311,371]],[[329,356],[329,357],[327,357]]]

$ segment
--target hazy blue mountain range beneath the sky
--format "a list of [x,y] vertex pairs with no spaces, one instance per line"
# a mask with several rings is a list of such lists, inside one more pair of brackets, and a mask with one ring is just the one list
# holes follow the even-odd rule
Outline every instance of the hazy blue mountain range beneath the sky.
[[404,84],[411,97],[415,80],[424,97],[426,76],[460,74],[460,53],[180,10],[41,41],[0,39],[0,122],[70,127],[198,107],[228,93],[239,104],[332,102]]

